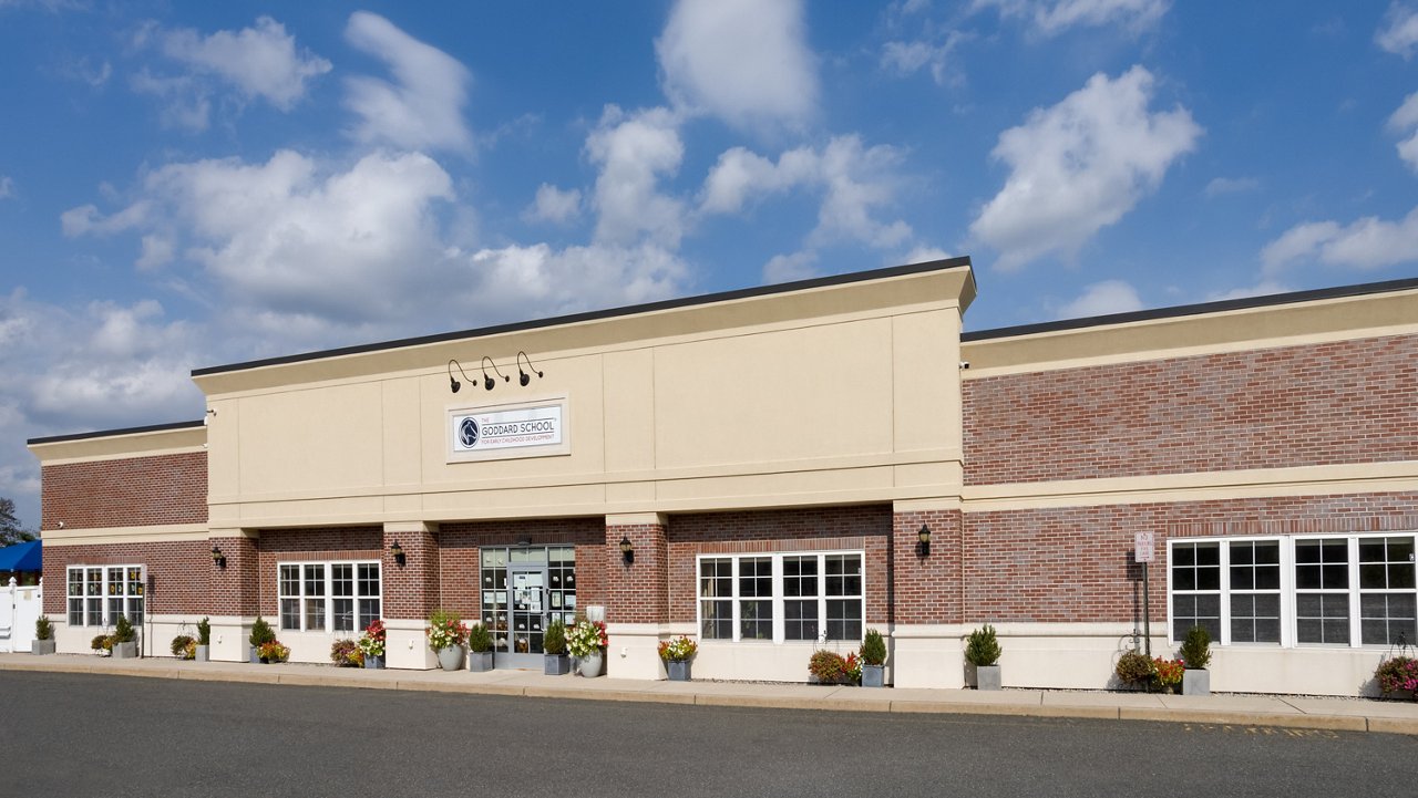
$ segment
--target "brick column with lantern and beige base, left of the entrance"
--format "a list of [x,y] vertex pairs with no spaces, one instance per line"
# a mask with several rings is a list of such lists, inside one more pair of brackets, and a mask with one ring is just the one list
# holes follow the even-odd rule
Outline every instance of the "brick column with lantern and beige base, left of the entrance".
[[[398,543],[404,550],[400,564],[389,551]],[[430,670],[437,658],[424,638],[428,615],[441,601],[438,587],[438,524],[423,522],[389,522],[380,546],[380,574],[383,577],[383,615],[386,635],[386,663],[389,668]]]

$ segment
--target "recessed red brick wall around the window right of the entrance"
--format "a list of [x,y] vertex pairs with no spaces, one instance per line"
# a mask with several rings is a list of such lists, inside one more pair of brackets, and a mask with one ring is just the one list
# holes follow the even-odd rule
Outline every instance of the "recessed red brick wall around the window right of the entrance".
[[861,549],[866,622],[885,624],[891,539],[892,509],[886,505],[674,516],[666,530],[669,618],[698,618],[699,554]]

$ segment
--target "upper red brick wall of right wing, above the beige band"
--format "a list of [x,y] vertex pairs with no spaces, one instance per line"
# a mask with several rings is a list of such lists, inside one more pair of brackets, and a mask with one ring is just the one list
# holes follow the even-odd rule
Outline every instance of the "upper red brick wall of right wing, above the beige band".
[[1418,336],[964,381],[966,483],[1418,459]]

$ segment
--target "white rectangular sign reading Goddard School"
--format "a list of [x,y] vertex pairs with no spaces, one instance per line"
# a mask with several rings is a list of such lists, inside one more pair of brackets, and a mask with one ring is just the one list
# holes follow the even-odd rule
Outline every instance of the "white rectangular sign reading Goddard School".
[[537,456],[566,451],[566,405],[539,403],[513,408],[451,410],[450,459]]

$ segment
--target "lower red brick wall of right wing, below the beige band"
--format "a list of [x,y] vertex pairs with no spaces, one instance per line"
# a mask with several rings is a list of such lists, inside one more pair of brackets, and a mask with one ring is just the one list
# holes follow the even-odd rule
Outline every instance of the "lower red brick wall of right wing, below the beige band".
[[[966,513],[966,622],[1133,622],[1133,534],[1156,536],[1153,621],[1167,618],[1168,536],[1418,529],[1418,492]],[[1140,615],[1136,615],[1140,618]]]

